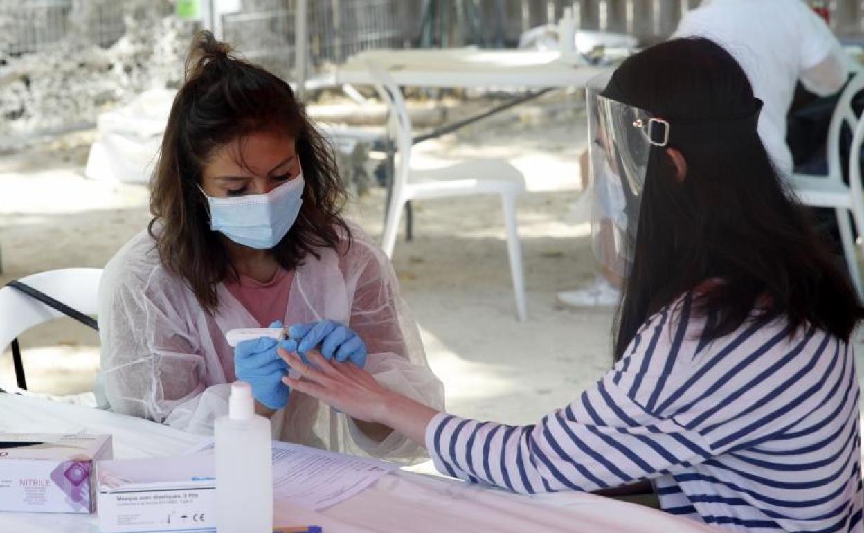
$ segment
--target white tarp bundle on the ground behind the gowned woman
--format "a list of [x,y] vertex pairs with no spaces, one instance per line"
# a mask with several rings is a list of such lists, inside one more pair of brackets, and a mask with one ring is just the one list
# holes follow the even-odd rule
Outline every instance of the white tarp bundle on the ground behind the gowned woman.
[[150,89],[128,105],[99,115],[98,140],[87,157],[85,175],[93,180],[147,183],[175,91]]

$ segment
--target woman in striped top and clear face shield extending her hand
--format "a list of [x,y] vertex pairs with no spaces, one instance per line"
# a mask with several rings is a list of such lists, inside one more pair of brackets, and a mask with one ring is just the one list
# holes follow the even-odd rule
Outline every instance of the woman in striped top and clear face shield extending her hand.
[[761,106],[702,39],[648,48],[588,88],[592,187],[618,199],[599,211],[616,223],[597,252],[625,289],[613,369],[563,409],[529,426],[466,420],[314,353],[317,369],[281,353],[303,375],[287,382],[472,482],[649,479],[665,511],[730,530],[864,530],[849,344],[862,310],[772,167]]

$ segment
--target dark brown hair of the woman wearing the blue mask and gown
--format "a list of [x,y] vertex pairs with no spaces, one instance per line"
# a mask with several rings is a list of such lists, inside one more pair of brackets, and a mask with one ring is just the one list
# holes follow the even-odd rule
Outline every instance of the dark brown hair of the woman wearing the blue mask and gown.
[[210,229],[198,189],[215,149],[261,131],[295,138],[306,187],[295,224],[270,250],[283,269],[295,269],[307,253],[316,255],[316,248],[344,251],[340,239],[347,236],[350,242],[351,235],[340,216],[346,192],[333,150],[287,83],[230,52],[210,32],[195,36],[151,182],[149,232],[162,263],[184,278],[210,313],[219,304],[216,284],[237,276],[221,238]]

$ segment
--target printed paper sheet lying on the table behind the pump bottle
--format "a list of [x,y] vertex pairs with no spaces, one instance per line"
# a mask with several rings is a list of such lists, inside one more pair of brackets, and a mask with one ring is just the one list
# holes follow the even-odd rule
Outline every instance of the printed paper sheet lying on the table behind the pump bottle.
[[[213,442],[190,453],[213,453]],[[273,442],[273,498],[320,511],[362,492],[399,466],[383,460],[334,454],[288,442]]]

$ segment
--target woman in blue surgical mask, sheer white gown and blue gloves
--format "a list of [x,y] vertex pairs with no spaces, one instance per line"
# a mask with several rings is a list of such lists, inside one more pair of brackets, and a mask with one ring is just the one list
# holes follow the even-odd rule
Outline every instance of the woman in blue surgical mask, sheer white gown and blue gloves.
[[277,439],[420,456],[390,428],[290,390],[276,340],[226,342],[232,329],[279,322],[292,337],[283,347],[317,346],[443,406],[391,264],[341,217],[334,156],[288,84],[198,35],[151,185],[154,218],[111,259],[99,291],[111,409],[208,433],[242,379]]

